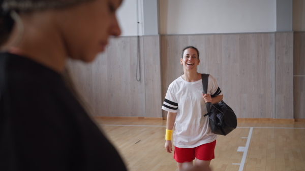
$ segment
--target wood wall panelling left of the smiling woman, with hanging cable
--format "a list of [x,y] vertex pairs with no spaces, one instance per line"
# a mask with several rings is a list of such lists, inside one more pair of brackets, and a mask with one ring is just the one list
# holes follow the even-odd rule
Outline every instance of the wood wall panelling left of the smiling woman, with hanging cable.
[[71,75],[97,116],[162,117],[160,38],[110,38],[105,53],[90,64],[69,61]]

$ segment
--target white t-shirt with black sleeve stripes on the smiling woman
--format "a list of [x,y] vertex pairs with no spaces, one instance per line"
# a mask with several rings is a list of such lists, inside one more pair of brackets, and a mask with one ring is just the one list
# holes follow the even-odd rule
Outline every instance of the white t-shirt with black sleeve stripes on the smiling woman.
[[[179,148],[194,148],[216,140],[211,133],[206,106],[202,97],[202,80],[188,82],[178,77],[168,87],[162,109],[177,113],[173,144]],[[217,80],[209,75],[207,94],[223,95]]]

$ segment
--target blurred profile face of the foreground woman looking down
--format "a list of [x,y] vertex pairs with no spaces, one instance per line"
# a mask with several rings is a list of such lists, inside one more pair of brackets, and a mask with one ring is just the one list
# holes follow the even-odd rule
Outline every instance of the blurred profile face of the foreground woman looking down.
[[103,52],[108,37],[121,33],[115,16],[120,4],[121,0],[96,0],[62,10],[59,27],[67,56],[90,62]]

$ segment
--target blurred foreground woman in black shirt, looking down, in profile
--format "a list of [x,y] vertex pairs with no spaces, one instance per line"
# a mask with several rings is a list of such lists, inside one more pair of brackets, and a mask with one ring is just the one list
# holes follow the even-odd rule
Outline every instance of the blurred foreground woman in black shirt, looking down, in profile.
[[64,78],[120,34],[120,4],[0,1],[0,170],[126,170]]

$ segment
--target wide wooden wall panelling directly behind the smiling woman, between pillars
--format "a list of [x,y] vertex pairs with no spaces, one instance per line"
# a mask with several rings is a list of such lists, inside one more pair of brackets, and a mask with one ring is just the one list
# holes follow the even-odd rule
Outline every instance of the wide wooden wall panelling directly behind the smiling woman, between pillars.
[[[161,37],[162,97],[180,76],[183,47],[200,51],[198,72],[219,81],[224,100],[240,118],[273,118],[275,115],[275,35],[207,34]],[[166,112],[163,112],[166,116]]]

